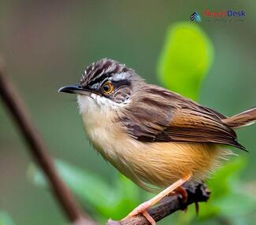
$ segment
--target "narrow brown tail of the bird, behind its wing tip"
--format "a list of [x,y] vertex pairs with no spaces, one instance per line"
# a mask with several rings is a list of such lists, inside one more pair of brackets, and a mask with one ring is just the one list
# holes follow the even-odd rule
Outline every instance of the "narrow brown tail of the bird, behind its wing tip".
[[256,122],[256,107],[222,120],[232,128],[245,127]]

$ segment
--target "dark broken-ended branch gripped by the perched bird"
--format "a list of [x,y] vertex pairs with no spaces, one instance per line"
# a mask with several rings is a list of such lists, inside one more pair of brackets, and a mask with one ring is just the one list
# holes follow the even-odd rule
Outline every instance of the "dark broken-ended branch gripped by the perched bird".
[[[191,183],[187,187],[187,202],[184,203],[180,194],[176,194],[170,197],[165,197],[158,206],[150,208],[148,212],[150,216],[157,222],[165,216],[169,216],[177,210],[184,210],[188,205],[197,203],[199,201],[207,201],[210,197],[210,191],[207,190],[206,185],[203,183]],[[138,215],[128,219],[122,219],[120,221],[114,221],[109,219],[107,225],[146,225],[150,224],[144,216]]]

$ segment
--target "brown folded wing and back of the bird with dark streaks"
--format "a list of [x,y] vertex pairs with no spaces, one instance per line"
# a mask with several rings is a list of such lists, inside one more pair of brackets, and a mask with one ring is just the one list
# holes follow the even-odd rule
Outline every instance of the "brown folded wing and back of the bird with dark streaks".
[[148,86],[131,104],[120,120],[141,142],[214,142],[245,149],[235,131],[221,121],[226,116],[180,94]]

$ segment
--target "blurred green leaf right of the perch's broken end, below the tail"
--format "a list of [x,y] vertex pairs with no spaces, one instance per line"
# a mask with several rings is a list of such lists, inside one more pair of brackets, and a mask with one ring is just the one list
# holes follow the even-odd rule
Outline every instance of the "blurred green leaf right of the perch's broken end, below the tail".
[[244,184],[239,179],[245,164],[245,158],[237,157],[213,174],[213,178],[208,182],[212,194],[210,201],[202,205],[201,219],[217,215],[230,219],[234,215],[246,217],[251,208],[256,208],[256,199],[244,191]]

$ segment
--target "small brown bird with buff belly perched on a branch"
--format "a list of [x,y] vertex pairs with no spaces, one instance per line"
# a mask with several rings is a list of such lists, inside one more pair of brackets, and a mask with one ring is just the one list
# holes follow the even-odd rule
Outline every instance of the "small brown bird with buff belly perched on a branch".
[[[141,79],[132,68],[102,59],[83,72],[80,84],[61,87],[78,94],[87,137],[106,160],[145,190],[164,189],[128,216],[143,214],[189,180],[204,180],[228,146],[245,148],[233,129],[253,124],[256,108],[227,117]],[[186,194],[184,194],[186,198]]]

